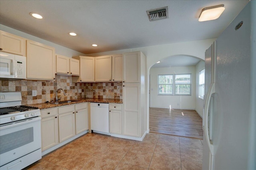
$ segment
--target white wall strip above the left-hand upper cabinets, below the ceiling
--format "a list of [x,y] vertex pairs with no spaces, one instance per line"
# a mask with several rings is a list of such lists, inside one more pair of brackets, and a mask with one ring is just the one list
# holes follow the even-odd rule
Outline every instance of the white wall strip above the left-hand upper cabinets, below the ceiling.
[[73,57],[73,56],[78,56],[78,55],[84,55],[83,53],[80,53],[78,51],[74,51],[72,49],[69,49],[69,48],[66,48],[66,47],[63,47],[61,45],[58,45],[58,44],[55,44],[55,43],[52,43],[50,41],[46,41],[44,39],[41,39],[41,38],[38,38],[38,37],[35,37],[33,35],[30,35],[30,34],[27,34],[27,33],[24,33],[24,32],[21,32],[21,31],[18,31],[16,29],[13,29],[11,27],[7,27],[5,25],[2,25],[0,24],[0,29],[2,31],[6,31],[8,33],[12,33],[14,35],[18,35],[20,37],[24,37],[26,39],[30,39],[32,41],[36,41],[38,43],[42,43],[42,44],[45,44],[45,45],[49,45],[51,47],[54,47],[55,48],[55,53],[56,54],[59,54],[59,55],[64,55],[66,57]]

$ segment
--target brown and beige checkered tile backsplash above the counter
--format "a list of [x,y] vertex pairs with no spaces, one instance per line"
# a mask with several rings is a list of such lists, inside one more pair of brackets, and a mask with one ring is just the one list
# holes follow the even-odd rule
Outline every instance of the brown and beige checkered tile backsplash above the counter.
[[[104,83],[73,83],[72,77],[55,76],[55,80],[0,80],[0,92],[21,92],[22,105],[45,103],[55,101],[55,93],[61,100],[74,100],[80,98],[122,99],[122,82]],[[32,96],[32,90],[37,91],[37,96]]]

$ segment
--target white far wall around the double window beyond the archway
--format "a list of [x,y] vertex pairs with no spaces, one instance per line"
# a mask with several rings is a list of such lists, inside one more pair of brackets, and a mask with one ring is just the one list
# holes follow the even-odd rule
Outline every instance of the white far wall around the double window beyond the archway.
[[[195,66],[150,68],[150,107],[172,109],[195,109],[196,75]],[[158,95],[158,74],[190,74],[191,96]]]

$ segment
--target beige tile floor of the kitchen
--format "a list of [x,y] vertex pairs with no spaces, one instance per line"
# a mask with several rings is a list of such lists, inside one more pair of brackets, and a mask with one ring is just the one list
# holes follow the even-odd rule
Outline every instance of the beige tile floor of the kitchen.
[[149,133],[142,142],[87,133],[29,170],[201,170],[202,141]]

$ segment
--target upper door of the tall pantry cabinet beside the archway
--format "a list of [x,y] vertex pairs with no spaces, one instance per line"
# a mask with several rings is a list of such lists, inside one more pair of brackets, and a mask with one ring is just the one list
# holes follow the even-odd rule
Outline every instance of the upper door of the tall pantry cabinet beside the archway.
[[124,53],[123,66],[125,83],[140,82],[140,52]]

